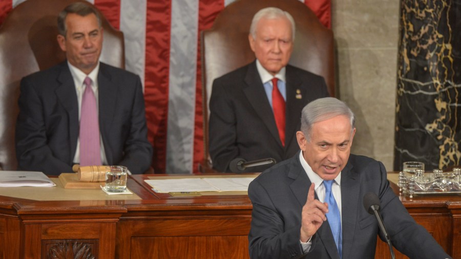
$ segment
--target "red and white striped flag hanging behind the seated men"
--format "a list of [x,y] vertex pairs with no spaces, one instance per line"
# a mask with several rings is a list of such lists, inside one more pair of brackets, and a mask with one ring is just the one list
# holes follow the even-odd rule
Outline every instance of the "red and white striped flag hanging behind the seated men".
[[[1,0],[0,24],[26,0]],[[234,0],[90,0],[125,37],[125,68],[144,81],[157,173],[197,172],[203,160],[200,32]],[[302,0],[331,26],[330,0]]]

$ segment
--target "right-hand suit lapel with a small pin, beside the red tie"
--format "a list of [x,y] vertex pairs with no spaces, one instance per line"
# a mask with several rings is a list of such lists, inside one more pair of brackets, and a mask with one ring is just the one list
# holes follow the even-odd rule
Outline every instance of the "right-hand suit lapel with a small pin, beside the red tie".
[[[307,93],[302,92],[303,88],[301,87],[302,81],[292,70],[292,67],[286,66],[286,118],[293,117],[294,114],[299,113],[304,107],[305,102],[303,98],[307,98]],[[301,98],[299,98],[301,97]],[[301,116],[301,114],[299,114]],[[298,142],[292,142],[292,138],[296,138],[296,131],[299,130],[298,125],[300,124],[299,119],[287,119],[285,125],[285,136],[289,138],[285,139],[285,143],[289,145],[294,143],[298,145]],[[289,148],[289,147],[287,147]]]

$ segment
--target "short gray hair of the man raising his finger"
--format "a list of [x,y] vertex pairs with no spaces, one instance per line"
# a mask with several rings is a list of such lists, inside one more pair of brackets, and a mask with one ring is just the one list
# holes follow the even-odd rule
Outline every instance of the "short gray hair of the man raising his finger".
[[301,113],[301,131],[304,133],[307,141],[310,142],[310,133],[312,133],[313,124],[338,115],[345,115],[349,118],[351,132],[353,132],[355,115],[339,99],[333,97],[319,98],[304,106]]

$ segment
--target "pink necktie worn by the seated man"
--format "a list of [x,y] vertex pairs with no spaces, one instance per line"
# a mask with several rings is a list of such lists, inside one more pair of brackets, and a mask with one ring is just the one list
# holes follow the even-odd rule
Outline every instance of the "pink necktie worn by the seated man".
[[80,166],[101,165],[99,122],[91,78],[86,77],[80,110]]

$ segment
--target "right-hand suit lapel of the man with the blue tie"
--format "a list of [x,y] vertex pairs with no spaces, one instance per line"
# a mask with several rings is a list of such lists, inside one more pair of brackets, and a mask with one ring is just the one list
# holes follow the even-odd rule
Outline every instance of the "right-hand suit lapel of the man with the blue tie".
[[352,165],[348,163],[341,173],[343,259],[348,259],[352,250],[355,227],[357,226],[359,193],[359,175],[355,173]]

